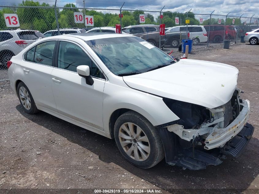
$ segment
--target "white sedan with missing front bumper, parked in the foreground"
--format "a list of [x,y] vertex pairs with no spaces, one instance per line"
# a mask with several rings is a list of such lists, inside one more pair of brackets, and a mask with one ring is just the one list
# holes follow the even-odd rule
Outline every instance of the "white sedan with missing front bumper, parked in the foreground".
[[237,156],[253,134],[246,123],[249,101],[236,88],[237,68],[176,62],[136,36],[47,37],[14,56],[8,67],[25,112],[41,110],[114,138],[122,155],[140,168],[164,156],[183,168],[218,165],[220,158],[207,150]]

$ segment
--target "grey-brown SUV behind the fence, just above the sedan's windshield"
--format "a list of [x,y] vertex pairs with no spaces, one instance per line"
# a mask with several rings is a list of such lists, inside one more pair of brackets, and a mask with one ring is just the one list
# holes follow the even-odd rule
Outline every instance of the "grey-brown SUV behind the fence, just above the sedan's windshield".
[[147,40],[156,47],[159,46],[159,25],[145,24],[145,25],[133,25],[127,26],[122,30],[127,29],[134,36],[138,36],[143,40]]

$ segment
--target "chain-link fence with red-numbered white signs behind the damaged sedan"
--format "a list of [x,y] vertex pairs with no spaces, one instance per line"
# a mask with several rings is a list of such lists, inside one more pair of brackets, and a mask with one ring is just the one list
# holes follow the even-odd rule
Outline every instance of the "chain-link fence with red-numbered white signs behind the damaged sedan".
[[[2,69],[13,55],[36,40],[58,34],[116,33],[115,26],[121,25],[121,33],[139,36],[164,51],[178,51],[183,39],[192,39],[192,48],[196,49],[218,45],[223,40],[236,41],[246,32],[258,28],[258,16],[219,11],[101,9],[33,3],[25,1],[19,6],[0,6]],[[165,24],[165,35],[160,35],[160,24]]]

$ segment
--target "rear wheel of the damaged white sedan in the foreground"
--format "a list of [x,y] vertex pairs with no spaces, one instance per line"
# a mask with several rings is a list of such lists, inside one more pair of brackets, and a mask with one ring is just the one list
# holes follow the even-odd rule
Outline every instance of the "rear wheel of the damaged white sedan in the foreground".
[[25,112],[29,114],[34,114],[36,112],[39,112],[32,98],[32,94],[30,93],[28,87],[23,82],[20,82],[18,84],[17,93],[18,93],[19,101]]

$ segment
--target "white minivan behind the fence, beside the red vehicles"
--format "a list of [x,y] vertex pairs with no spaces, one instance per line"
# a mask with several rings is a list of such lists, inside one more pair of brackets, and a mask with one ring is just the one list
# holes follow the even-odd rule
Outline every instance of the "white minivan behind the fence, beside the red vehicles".
[[[182,32],[182,31],[186,32],[186,26],[174,26],[166,30],[166,32]],[[192,40],[193,45],[205,43],[208,41],[208,34],[204,26],[188,25],[187,31],[190,32],[190,39],[193,39]]]

